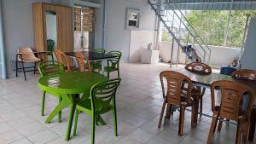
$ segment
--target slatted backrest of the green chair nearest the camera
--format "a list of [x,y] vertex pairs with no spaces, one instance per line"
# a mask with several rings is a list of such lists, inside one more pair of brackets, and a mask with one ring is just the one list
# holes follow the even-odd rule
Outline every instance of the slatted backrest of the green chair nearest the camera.
[[107,82],[95,84],[90,89],[91,110],[95,110],[96,101],[105,101],[109,104],[110,101],[115,101],[116,89],[118,88],[120,81],[120,78],[115,78],[108,80]]

